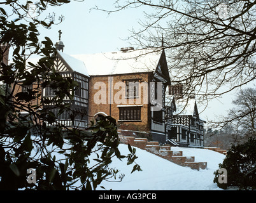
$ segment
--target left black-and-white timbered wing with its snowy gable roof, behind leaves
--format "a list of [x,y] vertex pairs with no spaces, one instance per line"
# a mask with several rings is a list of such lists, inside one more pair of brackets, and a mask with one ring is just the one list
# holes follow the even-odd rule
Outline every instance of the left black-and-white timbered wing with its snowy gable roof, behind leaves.
[[[58,48],[58,47],[57,47]],[[57,124],[64,125],[66,127],[75,128],[87,128],[88,127],[88,112],[89,112],[89,74],[85,67],[85,64],[69,56],[60,50],[57,51],[57,55],[54,61],[53,68],[62,77],[69,77],[73,81],[78,83],[78,87],[71,90],[73,100],[70,100],[66,96],[65,100],[71,103],[70,112],[64,111],[58,115],[59,109],[54,107],[54,103],[43,103],[43,108],[48,108],[57,116]],[[55,96],[54,91],[50,86],[42,89],[43,97],[52,98]],[[71,119],[71,114],[75,115],[75,119]],[[53,123],[53,125],[56,123]]]

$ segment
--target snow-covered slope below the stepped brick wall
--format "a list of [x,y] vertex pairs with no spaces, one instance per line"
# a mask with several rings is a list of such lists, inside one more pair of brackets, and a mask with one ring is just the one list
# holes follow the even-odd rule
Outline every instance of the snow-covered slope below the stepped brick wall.
[[[127,145],[119,145],[121,154],[129,154]],[[143,171],[131,174],[133,164],[113,159],[110,167],[116,167],[124,173],[121,182],[103,181],[101,186],[106,190],[222,190],[213,183],[213,172],[218,169],[225,155],[200,148],[171,147],[173,151],[183,151],[183,156],[194,156],[195,161],[206,161],[207,169],[196,171],[190,167],[182,167],[157,155],[136,148],[136,163]],[[97,187],[97,190],[103,188]]]

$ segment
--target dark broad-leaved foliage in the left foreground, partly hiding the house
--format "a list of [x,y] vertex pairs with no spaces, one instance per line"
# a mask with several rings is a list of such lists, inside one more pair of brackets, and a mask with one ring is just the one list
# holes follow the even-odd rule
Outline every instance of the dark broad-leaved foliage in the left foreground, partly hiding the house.
[[[69,1],[41,0],[36,10],[40,13],[47,6],[64,3]],[[4,6],[12,8],[13,15],[6,14],[7,7],[0,8],[0,45],[8,45],[1,46],[0,53],[0,190],[94,190],[103,180],[116,180],[119,171],[110,167],[111,159],[127,159],[132,164],[137,157],[134,149],[129,155],[120,154],[115,119],[100,117],[88,129],[48,125],[63,112],[70,112],[71,120],[77,113],[70,108],[70,92],[77,83],[53,69],[56,49],[50,38],[39,43],[38,27],[50,27],[52,18],[28,18],[29,6],[15,0]],[[15,15],[16,20],[9,19]],[[13,50],[10,64],[3,63],[8,48]],[[32,55],[41,59],[29,62],[28,70],[26,63]],[[31,84],[32,89],[16,91]],[[41,97],[46,86],[54,89],[53,98]],[[58,115],[42,108],[42,103],[54,103]],[[36,171],[35,183],[27,181],[28,169]],[[136,170],[141,170],[138,164],[132,172]]]

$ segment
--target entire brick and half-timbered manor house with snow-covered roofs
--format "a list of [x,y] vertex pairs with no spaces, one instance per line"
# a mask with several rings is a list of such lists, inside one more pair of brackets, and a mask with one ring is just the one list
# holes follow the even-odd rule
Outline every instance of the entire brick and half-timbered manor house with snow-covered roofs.
[[[145,133],[153,141],[180,147],[203,147],[204,121],[199,118],[195,98],[185,98],[182,84],[171,84],[164,49],[122,48],[120,51],[70,56],[64,44],[55,44],[54,69],[78,83],[71,90],[71,111],[43,103],[57,115],[59,124],[87,128],[91,118],[110,115],[118,129]],[[29,87],[27,87],[29,88]],[[23,90],[22,90],[23,91]],[[25,91],[25,89],[24,89]],[[42,96],[52,98],[50,86]],[[55,123],[53,123],[55,124]]]

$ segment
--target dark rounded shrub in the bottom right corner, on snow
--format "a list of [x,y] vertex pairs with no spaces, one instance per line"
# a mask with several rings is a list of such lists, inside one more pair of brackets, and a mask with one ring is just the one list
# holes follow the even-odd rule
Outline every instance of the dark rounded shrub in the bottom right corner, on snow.
[[256,140],[250,138],[246,143],[233,145],[220,168],[227,169],[227,183],[218,183],[218,171],[215,171],[214,183],[218,187],[239,187],[241,190],[256,188]]

